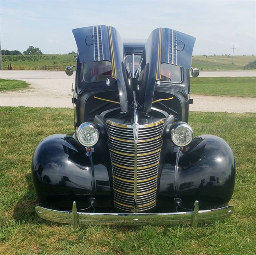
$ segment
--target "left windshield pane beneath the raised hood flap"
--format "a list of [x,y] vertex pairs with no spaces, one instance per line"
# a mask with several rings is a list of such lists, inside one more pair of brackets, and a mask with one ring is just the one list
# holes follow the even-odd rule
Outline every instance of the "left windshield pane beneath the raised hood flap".
[[111,77],[112,64],[109,61],[95,61],[84,63],[83,78],[85,82],[105,82]]

